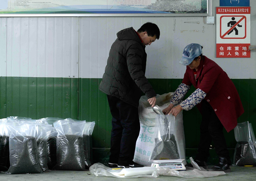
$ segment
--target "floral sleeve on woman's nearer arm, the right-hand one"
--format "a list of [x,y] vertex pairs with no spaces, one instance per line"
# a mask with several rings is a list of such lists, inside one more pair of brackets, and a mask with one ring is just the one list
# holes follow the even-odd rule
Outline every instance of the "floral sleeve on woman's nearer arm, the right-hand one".
[[186,100],[180,103],[184,110],[192,109],[196,104],[200,103],[206,96],[206,93],[201,89],[196,89]]

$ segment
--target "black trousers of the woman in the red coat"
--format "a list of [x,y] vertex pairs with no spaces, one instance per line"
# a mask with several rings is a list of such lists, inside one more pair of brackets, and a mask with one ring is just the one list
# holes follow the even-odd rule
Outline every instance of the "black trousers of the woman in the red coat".
[[231,164],[223,134],[223,125],[212,109],[212,106],[204,99],[202,101],[202,123],[200,125],[200,142],[196,160],[207,161],[210,156],[209,149],[212,141],[217,155],[226,158]]

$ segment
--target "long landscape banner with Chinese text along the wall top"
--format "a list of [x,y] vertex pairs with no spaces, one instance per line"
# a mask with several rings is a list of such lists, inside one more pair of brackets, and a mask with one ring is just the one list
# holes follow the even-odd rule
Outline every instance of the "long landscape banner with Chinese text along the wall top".
[[1,14],[205,13],[208,0],[1,0]]

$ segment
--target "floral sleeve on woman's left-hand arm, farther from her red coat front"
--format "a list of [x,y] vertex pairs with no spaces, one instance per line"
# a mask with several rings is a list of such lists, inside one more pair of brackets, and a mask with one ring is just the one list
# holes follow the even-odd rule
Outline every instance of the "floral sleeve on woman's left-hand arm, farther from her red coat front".
[[188,90],[190,89],[190,86],[181,83],[179,87],[174,92],[172,99],[170,100],[170,103],[174,106],[178,105],[180,101],[183,99],[183,97],[187,94]]

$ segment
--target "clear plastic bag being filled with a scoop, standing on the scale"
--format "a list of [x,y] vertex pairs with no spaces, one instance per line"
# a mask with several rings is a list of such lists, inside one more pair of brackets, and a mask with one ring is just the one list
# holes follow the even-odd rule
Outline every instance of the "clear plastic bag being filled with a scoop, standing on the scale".
[[180,158],[179,144],[174,132],[175,117],[172,115],[157,115],[158,130],[155,131],[156,145],[150,160],[175,160]]

